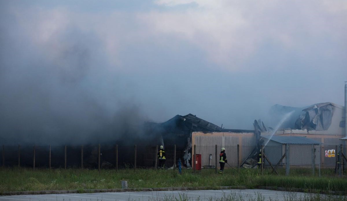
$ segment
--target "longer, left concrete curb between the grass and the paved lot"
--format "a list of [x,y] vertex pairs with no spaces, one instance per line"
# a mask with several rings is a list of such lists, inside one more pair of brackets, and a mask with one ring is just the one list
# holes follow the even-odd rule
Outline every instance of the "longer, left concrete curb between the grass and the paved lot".
[[0,192],[0,195],[37,195],[61,193],[103,193],[103,192],[134,192],[134,191],[196,191],[196,190],[227,190],[246,189],[246,186],[201,186],[201,187],[168,187],[168,188],[111,188],[111,189],[85,189],[85,190],[57,190],[57,191],[15,191]]

